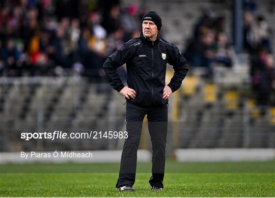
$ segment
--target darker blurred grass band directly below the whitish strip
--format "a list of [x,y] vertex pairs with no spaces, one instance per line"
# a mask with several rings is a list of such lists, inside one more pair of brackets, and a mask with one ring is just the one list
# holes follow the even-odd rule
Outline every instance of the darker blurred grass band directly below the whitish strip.
[[[26,163],[0,166],[1,173],[118,173],[119,163]],[[138,162],[137,173],[150,173],[151,163]],[[275,161],[176,162],[167,160],[166,173],[275,173]]]

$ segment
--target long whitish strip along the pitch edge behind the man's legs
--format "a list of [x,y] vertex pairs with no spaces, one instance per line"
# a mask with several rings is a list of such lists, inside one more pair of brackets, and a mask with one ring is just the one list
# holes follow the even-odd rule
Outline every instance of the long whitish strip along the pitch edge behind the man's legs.
[[[20,156],[20,152],[1,152],[0,164],[5,163],[33,163],[33,162],[50,162],[50,163],[108,163],[120,162],[122,150],[104,150],[104,151],[74,151],[74,153],[92,153],[92,157],[85,158],[62,158],[53,157],[28,157],[27,159]],[[41,153],[41,152],[38,152]],[[61,156],[61,151],[58,151]],[[207,162],[207,161],[266,161],[275,159],[275,149],[176,149],[176,159],[179,162]],[[148,150],[137,151],[137,161],[150,162],[151,152]]]

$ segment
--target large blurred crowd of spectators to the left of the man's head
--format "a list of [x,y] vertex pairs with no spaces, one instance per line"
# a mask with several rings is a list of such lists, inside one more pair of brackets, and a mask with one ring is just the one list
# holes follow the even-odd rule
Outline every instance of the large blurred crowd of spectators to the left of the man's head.
[[[1,1],[0,73],[100,78],[109,54],[139,37],[145,9],[108,0]],[[125,70],[119,72],[124,75]]]

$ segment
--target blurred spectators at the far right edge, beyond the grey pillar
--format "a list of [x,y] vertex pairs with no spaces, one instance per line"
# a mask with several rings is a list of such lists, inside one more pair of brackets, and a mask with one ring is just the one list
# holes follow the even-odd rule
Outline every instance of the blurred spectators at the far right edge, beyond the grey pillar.
[[[272,91],[275,91],[275,63],[269,36],[270,24],[263,15],[256,14],[259,6],[255,0],[244,1],[243,47],[250,55],[250,75],[256,102],[267,105],[275,102],[270,100]],[[270,1],[272,15],[274,7],[275,2]],[[271,25],[274,27],[274,24]]]

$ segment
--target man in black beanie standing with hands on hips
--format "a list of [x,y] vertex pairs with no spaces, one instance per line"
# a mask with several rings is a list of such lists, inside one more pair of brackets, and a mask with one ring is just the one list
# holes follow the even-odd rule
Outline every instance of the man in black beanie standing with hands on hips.
[[[126,98],[126,131],[116,187],[134,191],[136,153],[140,144],[142,122],[147,115],[152,142],[152,190],[162,190],[167,140],[168,98],[179,89],[187,74],[186,60],[172,43],[160,38],[161,18],[156,12],[143,16],[142,34],[126,42],[108,56],[103,65],[111,86]],[[116,69],[126,63],[128,87]],[[173,66],[174,75],[165,84],[166,65]]]

